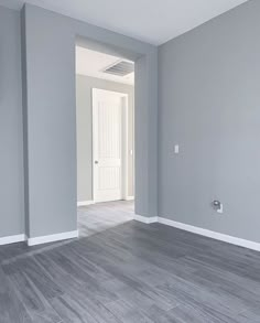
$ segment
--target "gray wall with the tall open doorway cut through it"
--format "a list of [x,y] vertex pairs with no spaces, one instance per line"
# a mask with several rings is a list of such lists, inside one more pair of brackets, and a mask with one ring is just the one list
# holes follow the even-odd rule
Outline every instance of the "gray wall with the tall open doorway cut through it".
[[76,36],[112,46],[140,66],[136,208],[144,216],[156,215],[158,49],[34,6],[24,10],[29,236],[77,227]]

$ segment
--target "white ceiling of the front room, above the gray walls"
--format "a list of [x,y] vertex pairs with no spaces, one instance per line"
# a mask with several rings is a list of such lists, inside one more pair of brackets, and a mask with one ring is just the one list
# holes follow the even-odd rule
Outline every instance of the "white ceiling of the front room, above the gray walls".
[[29,2],[159,45],[246,1],[0,0],[0,4],[20,9]]

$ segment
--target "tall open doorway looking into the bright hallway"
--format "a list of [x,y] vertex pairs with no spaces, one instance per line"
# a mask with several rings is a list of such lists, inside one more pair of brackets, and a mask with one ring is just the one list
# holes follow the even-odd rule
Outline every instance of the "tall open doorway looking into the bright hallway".
[[79,235],[134,217],[134,64],[76,47]]

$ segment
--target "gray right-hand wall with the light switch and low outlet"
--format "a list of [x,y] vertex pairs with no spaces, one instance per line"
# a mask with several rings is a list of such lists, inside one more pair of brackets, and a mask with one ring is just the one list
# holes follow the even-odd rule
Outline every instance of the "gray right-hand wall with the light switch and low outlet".
[[249,1],[159,50],[159,215],[258,243],[259,12]]

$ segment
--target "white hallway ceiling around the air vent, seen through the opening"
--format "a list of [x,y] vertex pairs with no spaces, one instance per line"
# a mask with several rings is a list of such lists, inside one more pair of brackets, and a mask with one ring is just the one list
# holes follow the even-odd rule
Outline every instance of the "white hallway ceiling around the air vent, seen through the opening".
[[102,72],[105,68],[120,61],[121,58],[117,56],[111,56],[100,52],[95,52],[95,51],[76,46],[76,73],[77,74],[88,75],[88,76],[108,79],[112,82],[133,85],[134,73],[131,73],[121,77],[121,76],[116,76],[116,75],[111,75],[111,74],[107,74]]

